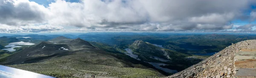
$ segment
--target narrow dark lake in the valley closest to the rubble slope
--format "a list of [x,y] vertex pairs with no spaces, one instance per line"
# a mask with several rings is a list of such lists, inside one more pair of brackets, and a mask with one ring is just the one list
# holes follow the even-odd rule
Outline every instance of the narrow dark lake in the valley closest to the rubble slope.
[[153,65],[154,67],[156,67],[157,69],[160,69],[160,70],[163,70],[167,73],[177,73],[178,71],[177,70],[170,70],[168,68],[163,68],[163,67],[160,67],[160,65],[166,65],[166,64],[163,64],[163,63],[156,63],[156,62],[148,62],[150,65]]

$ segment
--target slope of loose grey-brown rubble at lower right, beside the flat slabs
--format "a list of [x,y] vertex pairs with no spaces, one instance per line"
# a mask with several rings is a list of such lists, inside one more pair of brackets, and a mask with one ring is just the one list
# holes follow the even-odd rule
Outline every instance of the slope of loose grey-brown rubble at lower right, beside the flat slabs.
[[[166,78],[233,78],[235,76],[237,77],[236,74],[239,73],[239,68],[235,67],[234,62],[238,59],[234,59],[234,57],[237,55],[236,53],[239,52],[241,49],[256,49],[256,40],[245,40],[239,43],[232,44],[231,46],[224,48],[222,51],[219,51],[218,53],[214,54],[213,56],[210,56],[204,61],[201,61],[196,65],[193,65],[183,71],[180,71],[179,73],[175,73],[174,75],[170,75]],[[255,56],[255,54],[251,55]],[[240,59],[243,59],[243,57],[241,57]],[[253,57],[250,59],[255,58]],[[247,63],[252,64],[250,62]],[[250,69],[255,69],[256,64],[250,66],[252,67]],[[253,70],[249,73],[250,78],[256,77],[252,76],[256,75],[255,72],[256,70]],[[246,77],[246,75],[244,75],[244,77]]]

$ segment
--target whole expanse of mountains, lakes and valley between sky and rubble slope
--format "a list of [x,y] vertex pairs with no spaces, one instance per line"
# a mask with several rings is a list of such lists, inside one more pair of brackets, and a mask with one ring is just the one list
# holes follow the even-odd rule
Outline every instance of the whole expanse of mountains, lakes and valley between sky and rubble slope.
[[0,64],[57,78],[155,78],[180,72],[232,43],[256,39],[228,34],[112,34],[4,36]]

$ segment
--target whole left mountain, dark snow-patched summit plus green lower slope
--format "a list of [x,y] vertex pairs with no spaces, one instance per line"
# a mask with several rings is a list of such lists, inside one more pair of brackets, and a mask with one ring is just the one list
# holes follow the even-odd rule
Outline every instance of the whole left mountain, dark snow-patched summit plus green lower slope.
[[0,64],[57,78],[164,77],[145,62],[98,49],[80,38],[44,41],[0,59]]

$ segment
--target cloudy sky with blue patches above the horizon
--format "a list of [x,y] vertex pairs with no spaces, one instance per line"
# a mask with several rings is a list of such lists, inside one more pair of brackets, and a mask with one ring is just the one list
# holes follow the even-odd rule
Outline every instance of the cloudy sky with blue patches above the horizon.
[[0,33],[256,32],[256,0],[0,0]]

